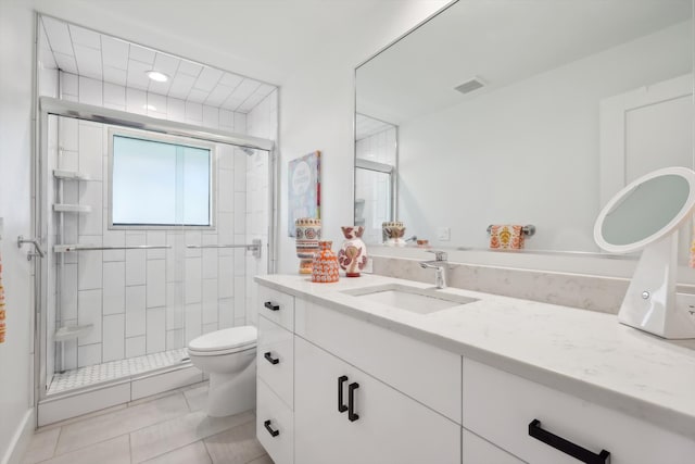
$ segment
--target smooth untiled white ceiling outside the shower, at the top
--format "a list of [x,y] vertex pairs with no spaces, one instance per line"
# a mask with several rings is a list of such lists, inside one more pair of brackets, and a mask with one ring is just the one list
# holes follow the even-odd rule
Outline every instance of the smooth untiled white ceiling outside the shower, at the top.
[[73,24],[281,85],[325,52],[356,65],[450,0],[26,1]]

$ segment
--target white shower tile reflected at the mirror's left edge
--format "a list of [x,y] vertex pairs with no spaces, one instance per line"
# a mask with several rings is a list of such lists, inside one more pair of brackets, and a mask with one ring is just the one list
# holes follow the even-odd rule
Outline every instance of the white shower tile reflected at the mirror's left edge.
[[[395,165],[395,127],[357,140],[355,152],[357,158],[364,160]],[[390,221],[388,214],[388,203],[390,201],[388,176],[374,172],[358,172],[355,180],[357,184],[355,186],[355,203],[359,200],[364,201],[362,206],[362,218],[365,220],[363,239],[367,243],[379,243],[381,242],[381,223]],[[355,220],[357,218],[356,212]]]

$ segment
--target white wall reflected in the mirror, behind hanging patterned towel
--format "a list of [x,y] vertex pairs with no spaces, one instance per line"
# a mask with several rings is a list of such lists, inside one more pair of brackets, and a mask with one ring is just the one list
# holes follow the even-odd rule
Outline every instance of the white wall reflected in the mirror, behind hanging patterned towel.
[[690,73],[691,37],[683,23],[403,123],[408,234],[438,243],[435,228],[450,227],[440,243],[486,248],[489,224],[534,224],[526,248],[597,251],[598,103]]

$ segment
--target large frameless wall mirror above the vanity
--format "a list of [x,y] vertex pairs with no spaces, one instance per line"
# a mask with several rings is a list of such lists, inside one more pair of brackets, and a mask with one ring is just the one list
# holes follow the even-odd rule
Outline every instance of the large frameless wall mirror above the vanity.
[[470,249],[532,224],[528,250],[598,252],[615,192],[693,167],[693,3],[459,0],[357,67],[356,113],[368,242],[389,220]]

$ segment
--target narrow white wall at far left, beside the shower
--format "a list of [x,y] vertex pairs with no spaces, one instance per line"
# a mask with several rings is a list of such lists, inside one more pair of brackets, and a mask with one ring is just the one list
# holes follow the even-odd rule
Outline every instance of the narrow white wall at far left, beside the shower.
[[31,68],[34,16],[20,1],[0,1],[0,217],[4,230],[3,284],[8,334],[0,344],[0,462],[33,402],[33,306],[30,264],[18,235],[30,236]]

